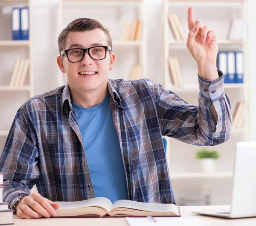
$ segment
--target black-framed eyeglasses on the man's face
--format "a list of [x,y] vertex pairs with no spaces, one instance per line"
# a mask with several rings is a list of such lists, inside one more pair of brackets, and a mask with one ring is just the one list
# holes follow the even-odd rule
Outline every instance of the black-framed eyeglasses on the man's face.
[[81,61],[84,58],[85,53],[88,52],[90,58],[100,61],[106,58],[107,50],[111,51],[111,46],[93,46],[87,49],[66,49],[61,51],[61,56],[66,53],[68,61],[76,63]]

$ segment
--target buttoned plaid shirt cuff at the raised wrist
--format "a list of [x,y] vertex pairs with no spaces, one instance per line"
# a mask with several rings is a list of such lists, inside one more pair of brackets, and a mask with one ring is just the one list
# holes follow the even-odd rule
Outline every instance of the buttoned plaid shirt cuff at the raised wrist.
[[208,81],[198,75],[199,93],[207,101],[218,101],[224,95],[224,76],[218,70],[219,78],[215,81]]

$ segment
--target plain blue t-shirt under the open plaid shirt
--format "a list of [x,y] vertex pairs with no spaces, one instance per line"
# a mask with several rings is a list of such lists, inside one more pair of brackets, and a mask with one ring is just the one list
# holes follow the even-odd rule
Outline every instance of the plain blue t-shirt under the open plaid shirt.
[[119,139],[113,123],[109,93],[95,107],[81,107],[72,100],[95,197],[128,200]]

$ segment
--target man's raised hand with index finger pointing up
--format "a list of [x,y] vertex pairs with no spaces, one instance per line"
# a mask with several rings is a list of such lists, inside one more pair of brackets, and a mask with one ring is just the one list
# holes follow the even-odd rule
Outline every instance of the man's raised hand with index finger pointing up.
[[198,64],[201,78],[209,81],[218,79],[216,66],[218,45],[215,32],[203,26],[201,20],[194,20],[193,8],[188,9],[189,34],[186,46]]

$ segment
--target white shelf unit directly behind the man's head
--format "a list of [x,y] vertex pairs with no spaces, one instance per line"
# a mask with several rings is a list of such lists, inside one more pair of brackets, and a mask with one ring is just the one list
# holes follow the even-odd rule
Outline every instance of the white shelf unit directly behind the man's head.
[[[147,43],[146,43],[146,14],[145,0],[60,0],[58,6],[58,34],[72,20],[79,17],[89,17],[99,20],[111,33],[113,50],[116,61],[109,78],[129,78],[131,69],[139,64],[142,67],[142,77],[147,75]],[[140,41],[120,41],[124,21],[142,22]],[[57,51],[58,52],[58,51]],[[66,75],[60,70],[58,86],[67,82]]]

